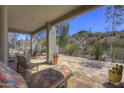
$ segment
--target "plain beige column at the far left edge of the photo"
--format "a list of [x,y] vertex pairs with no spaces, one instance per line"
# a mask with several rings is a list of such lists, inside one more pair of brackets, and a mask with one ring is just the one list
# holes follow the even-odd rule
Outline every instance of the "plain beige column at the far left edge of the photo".
[[8,63],[8,17],[7,6],[0,6],[0,61]]

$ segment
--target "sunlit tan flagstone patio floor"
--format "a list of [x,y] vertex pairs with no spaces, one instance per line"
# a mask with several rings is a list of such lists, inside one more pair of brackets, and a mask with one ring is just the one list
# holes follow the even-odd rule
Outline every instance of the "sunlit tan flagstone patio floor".
[[[36,63],[39,61],[43,62],[40,57],[32,61]],[[59,65],[66,65],[72,72],[72,77],[68,80],[69,88],[101,88],[105,87],[104,83],[108,82],[108,69],[112,64],[108,61],[96,61],[80,57],[71,57],[60,55]],[[39,66],[39,70],[49,68],[52,65],[43,64]],[[122,79],[124,81],[124,77]]]

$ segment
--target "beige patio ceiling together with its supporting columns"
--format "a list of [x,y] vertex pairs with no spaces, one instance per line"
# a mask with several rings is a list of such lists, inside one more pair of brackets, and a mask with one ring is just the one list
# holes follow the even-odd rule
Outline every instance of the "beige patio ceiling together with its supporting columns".
[[0,60],[8,64],[8,32],[31,35],[31,51],[35,47],[36,33],[46,30],[47,63],[58,53],[55,24],[85,14],[100,6],[0,6],[1,53]]

